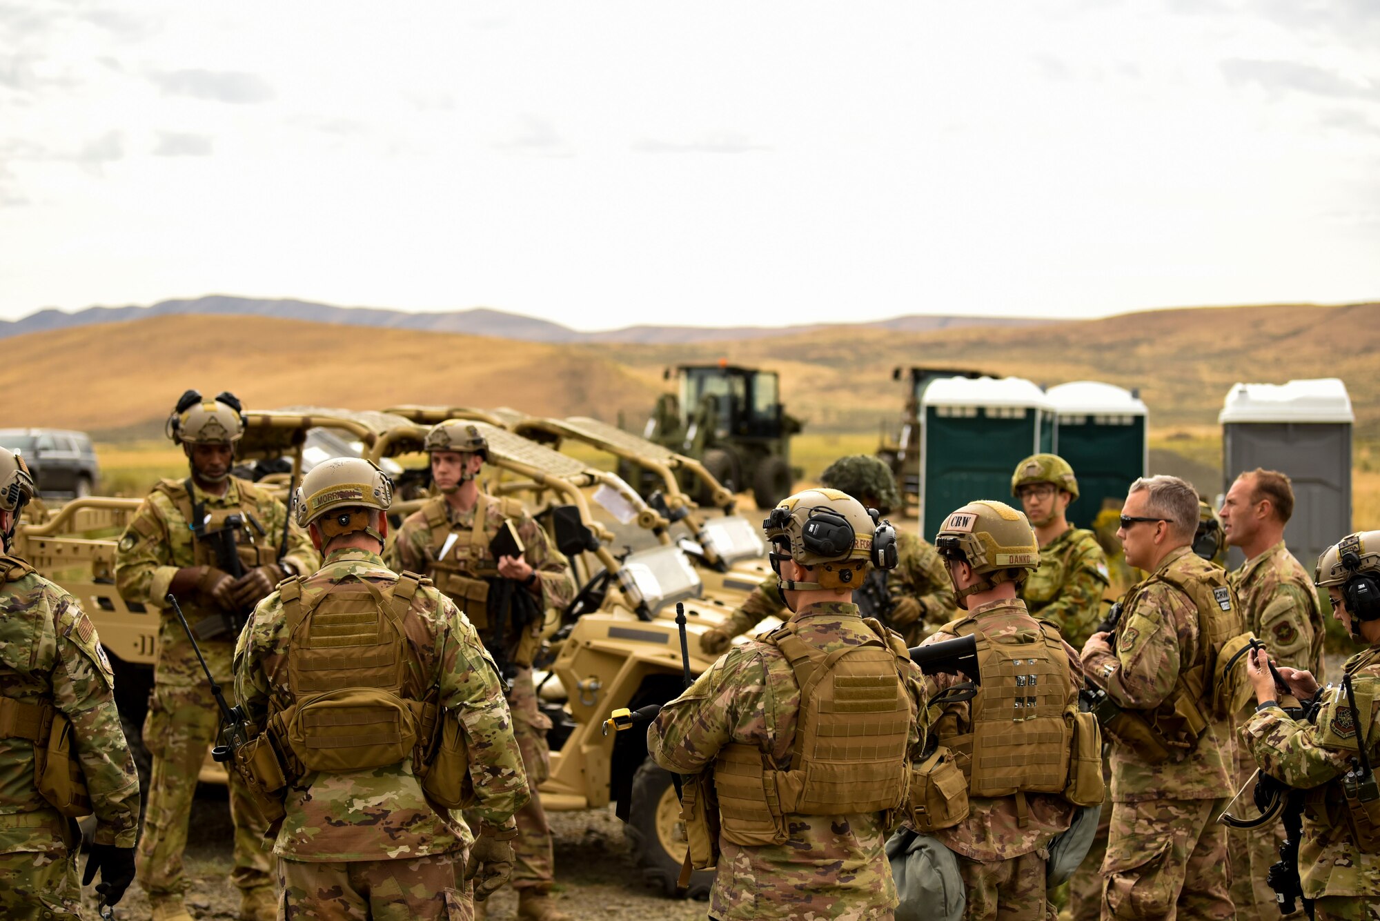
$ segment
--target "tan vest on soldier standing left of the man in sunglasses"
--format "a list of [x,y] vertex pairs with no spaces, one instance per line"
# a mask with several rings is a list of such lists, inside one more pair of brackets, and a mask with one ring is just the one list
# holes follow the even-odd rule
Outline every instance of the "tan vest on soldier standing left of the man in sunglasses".
[[977,641],[983,681],[969,703],[967,732],[956,732],[952,718],[940,720],[940,745],[954,751],[976,797],[1064,794],[1068,787],[1078,685],[1058,627],[1034,618],[1029,626],[988,636],[976,618],[965,618],[941,629]]

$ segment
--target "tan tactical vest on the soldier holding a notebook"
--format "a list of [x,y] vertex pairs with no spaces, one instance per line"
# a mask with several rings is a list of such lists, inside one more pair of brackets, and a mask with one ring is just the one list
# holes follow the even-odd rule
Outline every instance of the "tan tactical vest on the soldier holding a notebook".
[[[475,629],[483,633],[489,627],[489,580],[498,575],[498,561],[489,553],[489,507],[498,505],[505,518],[520,518],[522,503],[516,499],[479,494],[475,503],[475,521],[469,531],[451,531],[446,516],[446,496],[433,496],[421,507],[431,531],[431,558],[426,575],[455,605],[465,612]],[[450,549],[446,542],[455,536]],[[444,558],[440,558],[446,550]],[[487,576],[487,578],[486,578]]]

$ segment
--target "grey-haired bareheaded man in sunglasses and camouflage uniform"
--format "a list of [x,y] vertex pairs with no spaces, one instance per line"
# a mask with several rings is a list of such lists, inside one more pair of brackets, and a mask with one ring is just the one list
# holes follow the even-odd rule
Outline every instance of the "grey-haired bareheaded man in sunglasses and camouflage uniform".
[[[1184,674],[1245,625],[1225,575],[1190,549],[1198,525],[1190,484],[1136,480],[1121,525],[1126,561],[1151,575],[1127,593],[1116,633],[1094,633],[1082,652],[1087,678],[1144,727],[1143,735],[1103,727],[1114,738],[1103,918],[1231,918],[1227,830],[1214,822],[1235,793],[1231,724],[1187,694]],[[1201,733],[1176,705],[1196,711]]]

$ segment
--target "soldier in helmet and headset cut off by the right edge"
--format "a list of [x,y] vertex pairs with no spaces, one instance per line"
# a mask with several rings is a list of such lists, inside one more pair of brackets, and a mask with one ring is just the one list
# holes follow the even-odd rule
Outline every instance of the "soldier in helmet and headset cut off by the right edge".
[[[1235,512],[1234,512],[1235,514]],[[1248,663],[1256,713],[1241,740],[1260,769],[1307,790],[1299,876],[1318,921],[1380,920],[1380,809],[1348,800],[1344,778],[1357,767],[1359,743],[1370,765],[1380,762],[1380,531],[1343,538],[1318,558],[1317,585],[1332,597],[1334,616],[1366,648],[1347,659],[1343,688],[1318,687],[1305,670],[1281,663],[1289,691],[1310,707],[1294,720],[1275,702],[1278,692],[1265,652]],[[1271,656],[1272,658],[1272,656]],[[1370,783],[1373,783],[1373,776]]]

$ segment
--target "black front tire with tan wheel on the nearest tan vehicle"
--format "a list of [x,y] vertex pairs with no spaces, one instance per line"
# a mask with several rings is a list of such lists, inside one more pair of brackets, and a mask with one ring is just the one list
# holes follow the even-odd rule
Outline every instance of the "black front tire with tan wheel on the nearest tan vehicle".
[[642,878],[661,887],[678,899],[707,899],[713,885],[713,870],[696,870],[690,885],[684,889],[676,885],[680,878],[680,863],[686,856],[684,824],[680,822],[680,804],[676,789],[671,783],[671,772],[647,758],[632,776],[632,802],[628,807],[628,823],[622,830],[632,851],[632,859],[642,870]]

